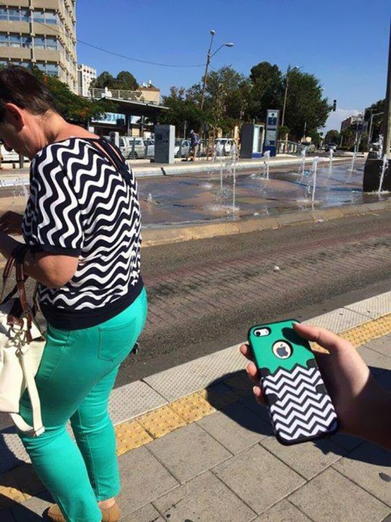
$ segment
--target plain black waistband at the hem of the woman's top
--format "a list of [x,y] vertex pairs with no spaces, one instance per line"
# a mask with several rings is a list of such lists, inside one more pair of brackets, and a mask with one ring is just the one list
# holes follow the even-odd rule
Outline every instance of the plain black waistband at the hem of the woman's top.
[[101,308],[88,308],[87,310],[64,310],[63,308],[56,308],[48,304],[40,304],[40,309],[47,322],[58,330],[83,330],[97,326],[108,319],[113,319],[116,315],[123,312],[128,306],[131,306],[133,301],[138,298],[144,283],[140,276],[135,286],[125,296],[107,303]]

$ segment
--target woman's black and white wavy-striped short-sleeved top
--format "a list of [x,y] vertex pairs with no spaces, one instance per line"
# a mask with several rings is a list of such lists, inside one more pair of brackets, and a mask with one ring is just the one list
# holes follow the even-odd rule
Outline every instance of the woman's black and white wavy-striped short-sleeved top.
[[55,328],[107,321],[142,290],[137,183],[122,160],[103,139],[69,138],[32,161],[24,240],[33,252],[79,258],[65,286],[39,285],[40,308]]

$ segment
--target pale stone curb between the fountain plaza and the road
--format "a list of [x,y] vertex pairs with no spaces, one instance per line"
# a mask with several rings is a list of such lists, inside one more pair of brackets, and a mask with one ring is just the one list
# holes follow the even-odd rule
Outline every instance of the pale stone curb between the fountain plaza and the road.
[[383,210],[391,209],[391,199],[378,203],[364,203],[363,205],[347,205],[346,207],[331,207],[319,210],[303,210],[301,212],[287,213],[283,216],[270,216],[242,219],[222,223],[187,223],[184,226],[156,226],[142,228],[142,246],[158,246],[191,239],[210,239],[224,235],[256,232],[256,230],[268,230],[285,226],[299,225],[303,223],[319,223],[329,219],[338,219],[344,216],[376,214]]

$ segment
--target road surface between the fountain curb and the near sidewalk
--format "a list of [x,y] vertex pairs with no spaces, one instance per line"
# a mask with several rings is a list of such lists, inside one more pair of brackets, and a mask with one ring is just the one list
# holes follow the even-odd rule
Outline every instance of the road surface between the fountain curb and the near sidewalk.
[[309,319],[391,290],[390,219],[381,212],[142,249],[149,317],[116,386],[241,342],[252,324]]

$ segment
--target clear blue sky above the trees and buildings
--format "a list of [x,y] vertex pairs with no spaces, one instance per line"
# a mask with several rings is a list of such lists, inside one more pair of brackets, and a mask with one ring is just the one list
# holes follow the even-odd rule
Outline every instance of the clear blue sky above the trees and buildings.
[[390,19],[390,0],[77,0],[76,51],[98,74],[128,70],[164,95],[201,81],[213,29],[212,53],[234,44],[213,56],[213,69],[301,67],[337,100],[325,129],[340,129],[385,97]]

